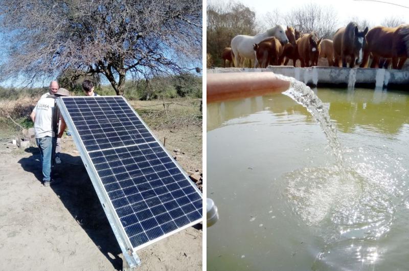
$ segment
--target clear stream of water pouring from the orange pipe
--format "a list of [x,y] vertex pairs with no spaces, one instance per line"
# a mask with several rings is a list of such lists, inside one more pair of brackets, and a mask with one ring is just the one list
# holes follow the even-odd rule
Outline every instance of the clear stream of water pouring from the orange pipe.
[[[288,77],[280,78],[288,80]],[[328,106],[325,106],[311,88],[302,82],[294,79],[290,79],[290,82],[290,88],[283,92],[283,94],[307,108],[312,117],[320,124],[335,156],[337,167],[342,175],[345,175],[344,156],[336,136],[336,127],[332,124],[329,117]]]

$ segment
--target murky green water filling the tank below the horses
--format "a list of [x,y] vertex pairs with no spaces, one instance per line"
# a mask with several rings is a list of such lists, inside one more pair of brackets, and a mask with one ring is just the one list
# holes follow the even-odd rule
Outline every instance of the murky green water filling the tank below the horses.
[[282,94],[208,104],[208,270],[409,269],[409,95],[315,90],[338,129]]

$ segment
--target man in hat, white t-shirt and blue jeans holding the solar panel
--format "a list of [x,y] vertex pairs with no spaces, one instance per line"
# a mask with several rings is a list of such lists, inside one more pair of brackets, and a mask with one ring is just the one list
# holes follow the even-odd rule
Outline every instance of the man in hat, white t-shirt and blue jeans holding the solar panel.
[[[34,122],[35,138],[40,149],[44,186],[50,186],[53,148],[57,138],[61,138],[66,127],[65,121],[61,116],[54,116],[56,114],[54,110],[55,98],[69,95],[70,93],[66,89],[59,88],[56,92],[53,91],[53,94],[41,96],[42,98],[38,101],[30,115]],[[57,135],[56,122],[58,119],[61,119],[61,127]]]

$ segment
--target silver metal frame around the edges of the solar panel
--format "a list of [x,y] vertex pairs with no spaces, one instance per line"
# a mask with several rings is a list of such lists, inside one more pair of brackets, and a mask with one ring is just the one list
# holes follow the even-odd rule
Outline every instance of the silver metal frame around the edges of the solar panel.
[[[101,99],[101,98],[108,98],[108,97],[119,97],[119,96],[94,96],[94,97],[89,97],[89,98],[97,98],[97,99]],[[85,145],[83,144],[79,132],[77,130],[77,128],[74,125],[74,122],[67,110],[67,108],[65,107],[65,104],[63,103],[62,99],[64,98],[85,98],[87,99],[88,97],[84,97],[84,96],[71,96],[71,97],[59,97],[57,99],[57,106],[61,112],[62,117],[64,118],[65,123],[67,124],[67,127],[69,128],[70,132],[72,133],[73,139],[74,139],[74,143],[77,146],[77,149],[80,153],[82,162],[84,163],[85,169],[89,175],[89,178],[91,179],[91,182],[94,186],[95,191],[97,192],[98,198],[101,201],[101,205],[105,211],[105,214],[108,218],[109,224],[111,225],[112,231],[115,234],[115,237],[118,240],[119,246],[121,247],[122,250],[122,254],[123,257],[126,259],[126,261],[128,262],[130,267],[134,267],[137,265],[141,264],[141,260],[138,257],[137,254],[137,250],[142,249],[145,246],[148,246],[156,241],[159,241],[161,239],[164,239],[172,234],[175,234],[181,230],[184,230],[186,228],[191,227],[192,225],[195,225],[197,223],[200,223],[201,220],[203,219],[203,210],[201,213],[201,218],[197,219],[193,222],[190,222],[180,228],[177,228],[176,230],[173,230],[167,234],[164,234],[160,237],[157,237],[153,240],[149,240],[148,242],[137,246],[137,247],[133,247],[132,244],[130,243],[130,241],[128,240],[127,234],[125,233],[125,229],[120,221],[119,216],[117,215],[115,208],[112,205],[111,200],[109,199],[108,193],[105,191],[104,185],[101,182],[101,179],[97,173],[97,170],[94,166],[94,163],[92,162],[88,151],[85,148]],[[141,123],[144,125],[144,127],[151,133],[152,137],[155,139],[155,141],[161,146],[161,148],[169,155],[169,157],[171,158],[172,162],[176,165],[176,167],[180,170],[180,172],[188,179],[190,180],[190,178],[188,177],[188,175],[186,174],[186,172],[180,167],[180,165],[178,163],[176,163],[176,161],[173,159],[172,155],[166,150],[166,148],[162,145],[162,143],[156,138],[155,134],[149,129],[148,125],[142,120],[142,118],[138,115],[138,113],[133,109],[133,107],[129,104],[129,102],[122,97],[122,99],[126,102],[126,104],[129,106],[129,108],[132,109],[133,113],[139,118],[139,120],[141,121]],[[121,146],[121,147],[114,147],[112,149],[117,149],[117,148],[123,148],[126,146]],[[203,201],[203,196],[200,192],[200,190],[196,187],[196,185],[193,184],[193,182],[189,182],[189,184],[195,189],[196,192],[198,192],[198,194],[200,195],[201,200]]]

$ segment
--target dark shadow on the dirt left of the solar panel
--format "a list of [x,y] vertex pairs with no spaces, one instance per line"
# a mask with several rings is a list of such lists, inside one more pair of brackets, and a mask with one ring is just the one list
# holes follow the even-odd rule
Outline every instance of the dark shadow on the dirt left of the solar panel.
[[[41,183],[40,152],[35,147],[27,148],[25,151],[32,155],[20,159],[18,163],[25,171],[33,173]],[[122,251],[81,157],[66,153],[61,153],[60,157],[62,164],[56,165],[53,170],[57,177],[61,178],[61,183],[52,185],[51,189],[103,255],[112,263],[113,268],[122,270],[122,259],[118,256]],[[108,253],[115,258],[112,259]]]

